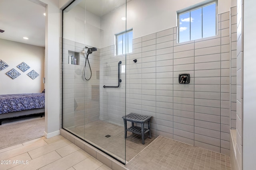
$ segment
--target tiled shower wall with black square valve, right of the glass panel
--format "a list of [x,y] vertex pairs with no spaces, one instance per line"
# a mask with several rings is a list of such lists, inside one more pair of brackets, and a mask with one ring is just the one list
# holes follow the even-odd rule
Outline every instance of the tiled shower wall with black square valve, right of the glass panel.
[[[126,113],[151,115],[155,135],[229,154],[230,13],[218,15],[214,37],[178,44],[176,37],[174,27],[133,40]],[[190,84],[178,83],[181,73]]]

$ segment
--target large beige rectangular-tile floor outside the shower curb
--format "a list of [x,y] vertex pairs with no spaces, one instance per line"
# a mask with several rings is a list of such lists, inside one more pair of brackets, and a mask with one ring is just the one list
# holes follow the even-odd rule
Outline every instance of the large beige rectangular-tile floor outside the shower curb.
[[61,135],[1,149],[0,161],[0,170],[111,170]]

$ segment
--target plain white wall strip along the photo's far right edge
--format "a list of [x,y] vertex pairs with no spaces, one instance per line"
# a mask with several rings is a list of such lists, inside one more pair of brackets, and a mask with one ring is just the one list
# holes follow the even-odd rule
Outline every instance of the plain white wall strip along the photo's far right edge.
[[256,79],[255,12],[256,1],[244,0],[244,106],[243,106],[243,169],[256,167]]

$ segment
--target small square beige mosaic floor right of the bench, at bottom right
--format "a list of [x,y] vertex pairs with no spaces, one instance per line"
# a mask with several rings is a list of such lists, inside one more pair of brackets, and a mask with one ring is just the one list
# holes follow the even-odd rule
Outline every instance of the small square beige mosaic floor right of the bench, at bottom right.
[[231,170],[228,155],[161,136],[125,167],[128,170]]

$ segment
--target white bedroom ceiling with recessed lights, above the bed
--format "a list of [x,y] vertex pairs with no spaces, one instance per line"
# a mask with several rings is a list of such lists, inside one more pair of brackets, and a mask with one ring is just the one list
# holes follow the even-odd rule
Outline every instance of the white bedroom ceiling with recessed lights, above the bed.
[[45,47],[44,13],[44,7],[29,0],[0,0],[0,39]]

